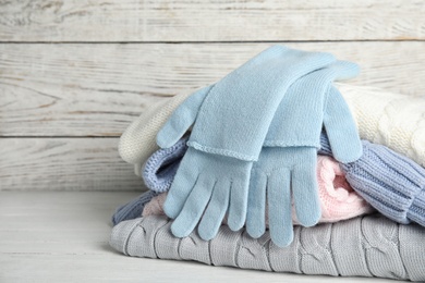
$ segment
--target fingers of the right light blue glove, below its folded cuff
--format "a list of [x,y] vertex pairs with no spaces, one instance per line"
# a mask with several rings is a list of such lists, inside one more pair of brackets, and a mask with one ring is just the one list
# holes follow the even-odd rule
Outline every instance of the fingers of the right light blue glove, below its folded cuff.
[[260,237],[266,231],[266,202],[270,236],[277,246],[288,246],[293,238],[292,197],[301,225],[318,222],[321,210],[316,160],[314,147],[263,148],[250,181],[246,232],[252,237]]

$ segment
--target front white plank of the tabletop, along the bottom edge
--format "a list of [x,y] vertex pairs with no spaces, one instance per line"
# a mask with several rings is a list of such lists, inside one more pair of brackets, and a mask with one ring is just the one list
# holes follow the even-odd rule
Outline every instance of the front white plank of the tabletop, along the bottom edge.
[[[64,245],[66,243],[63,243]],[[99,254],[90,254],[95,249]],[[377,278],[332,278],[214,267],[193,261],[132,258],[97,245],[87,254],[0,254],[1,282],[238,282],[393,283]]]

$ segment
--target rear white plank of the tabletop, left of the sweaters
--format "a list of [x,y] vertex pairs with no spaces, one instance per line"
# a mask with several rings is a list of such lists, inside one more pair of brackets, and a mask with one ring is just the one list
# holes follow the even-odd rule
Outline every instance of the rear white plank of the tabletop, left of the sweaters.
[[108,245],[116,208],[139,194],[1,192],[0,253],[95,254],[93,245]]

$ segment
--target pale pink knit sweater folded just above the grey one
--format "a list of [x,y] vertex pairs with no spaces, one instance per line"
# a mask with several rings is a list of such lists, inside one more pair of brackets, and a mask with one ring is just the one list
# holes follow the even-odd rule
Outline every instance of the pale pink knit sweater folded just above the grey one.
[[[321,209],[319,223],[337,222],[373,211],[372,207],[351,188],[333,158],[317,157],[317,183]],[[145,205],[142,216],[165,216],[162,207],[166,198],[167,193],[154,197]],[[294,212],[293,206],[292,211]],[[292,223],[299,224],[295,213],[292,213]],[[266,224],[268,225],[267,210]]]

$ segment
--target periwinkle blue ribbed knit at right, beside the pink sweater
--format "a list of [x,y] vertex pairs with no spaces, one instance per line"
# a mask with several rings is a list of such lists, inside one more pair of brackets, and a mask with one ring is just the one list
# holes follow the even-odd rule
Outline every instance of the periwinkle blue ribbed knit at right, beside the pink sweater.
[[[325,133],[320,153],[331,155]],[[386,217],[425,226],[425,169],[389,148],[363,140],[363,156],[341,164],[348,182]]]

